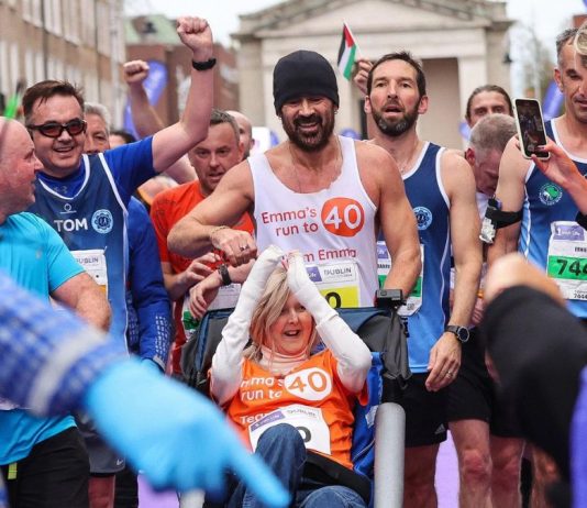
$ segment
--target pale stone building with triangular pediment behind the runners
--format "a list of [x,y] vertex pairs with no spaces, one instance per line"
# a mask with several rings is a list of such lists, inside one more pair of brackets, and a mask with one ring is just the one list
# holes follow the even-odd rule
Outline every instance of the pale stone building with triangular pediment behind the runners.
[[[313,49],[336,65],[343,22],[362,56],[408,49],[422,59],[430,108],[419,122],[423,139],[459,147],[458,125],[466,99],[479,85],[509,90],[506,2],[490,0],[288,0],[241,15],[233,34],[237,54],[240,106],[255,125],[284,139],[275,114],[272,73],[296,49]],[[364,129],[362,97],[337,73],[341,108],[336,130]],[[259,100],[261,98],[261,100]]]

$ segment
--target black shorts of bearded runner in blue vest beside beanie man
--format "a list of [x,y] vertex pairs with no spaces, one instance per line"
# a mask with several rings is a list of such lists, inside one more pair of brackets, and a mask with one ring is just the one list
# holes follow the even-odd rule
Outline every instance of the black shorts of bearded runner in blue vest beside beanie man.
[[406,411],[406,448],[446,441],[446,388],[427,390],[428,375],[412,374],[398,400]]

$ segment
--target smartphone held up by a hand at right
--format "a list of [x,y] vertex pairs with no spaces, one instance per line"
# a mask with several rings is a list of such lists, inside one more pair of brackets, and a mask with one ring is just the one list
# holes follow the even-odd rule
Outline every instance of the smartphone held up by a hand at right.
[[518,126],[520,148],[525,158],[549,158],[549,152],[539,151],[538,147],[546,144],[546,132],[540,102],[536,99],[514,99],[513,115]]

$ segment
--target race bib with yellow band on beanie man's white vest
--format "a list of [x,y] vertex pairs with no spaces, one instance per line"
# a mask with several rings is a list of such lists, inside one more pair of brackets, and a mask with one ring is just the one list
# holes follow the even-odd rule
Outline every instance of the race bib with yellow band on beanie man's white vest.
[[306,269],[331,307],[359,307],[358,269],[354,261],[306,265]]

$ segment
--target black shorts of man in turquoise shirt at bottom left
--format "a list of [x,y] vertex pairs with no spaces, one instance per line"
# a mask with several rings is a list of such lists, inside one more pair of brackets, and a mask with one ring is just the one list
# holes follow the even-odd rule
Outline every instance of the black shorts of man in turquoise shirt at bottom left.
[[13,507],[87,508],[89,473],[84,440],[75,427],[36,444],[22,461],[2,466]]

